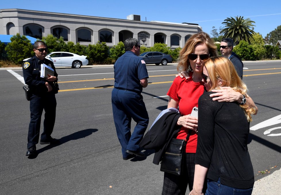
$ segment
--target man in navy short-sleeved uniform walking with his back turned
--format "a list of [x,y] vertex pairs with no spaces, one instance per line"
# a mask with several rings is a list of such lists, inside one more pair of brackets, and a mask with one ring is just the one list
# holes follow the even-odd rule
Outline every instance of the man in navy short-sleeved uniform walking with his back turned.
[[[140,45],[137,39],[124,41],[125,53],[114,64],[114,89],[111,103],[117,137],[122,146],[124,160],[145,156],[138,144],[147,129],[149,117],[141,92],[147,87],[148,73],[145,61],[138,57]],[[131,134],[131,121],[136,127]]]

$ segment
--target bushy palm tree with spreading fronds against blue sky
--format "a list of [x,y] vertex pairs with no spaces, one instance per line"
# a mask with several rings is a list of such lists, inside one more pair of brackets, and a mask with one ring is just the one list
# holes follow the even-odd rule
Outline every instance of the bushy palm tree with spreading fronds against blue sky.
[[223,38],[233,39],[236,45],[241,40],[251,43],[255,34],[253,28],[255,25],[252,24],[255,23],[254,21],[251,21],[250,18],[244,19],[243,16],[226,18],[224,21],[222,24],[225,24],[225,27],[220,31],[220,33],[224,34]]

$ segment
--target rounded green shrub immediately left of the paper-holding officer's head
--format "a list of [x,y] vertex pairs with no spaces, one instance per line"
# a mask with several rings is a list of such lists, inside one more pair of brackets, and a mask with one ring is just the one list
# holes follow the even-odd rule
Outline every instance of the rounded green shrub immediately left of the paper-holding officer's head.
[[15,64],[22,64],[23,59],[32,57],[34,54],[32,49],[30,40],[19,33],[11,37],[11,42],[5,47],[8,59]]

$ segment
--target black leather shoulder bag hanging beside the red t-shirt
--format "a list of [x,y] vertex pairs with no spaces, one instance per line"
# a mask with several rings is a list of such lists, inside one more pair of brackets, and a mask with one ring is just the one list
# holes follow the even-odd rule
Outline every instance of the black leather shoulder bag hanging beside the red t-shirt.
[[160,171],[180,175],[183,169],[186,143],[192,130],[188,131],[185,139],[172,138],[165,154],[162,156]]

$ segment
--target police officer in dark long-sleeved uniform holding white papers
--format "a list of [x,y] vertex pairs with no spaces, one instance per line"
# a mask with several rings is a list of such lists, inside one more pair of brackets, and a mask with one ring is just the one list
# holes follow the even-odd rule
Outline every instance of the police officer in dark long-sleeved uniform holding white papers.
[[[44,129],[41,134],[40,144],[57,144],[58,139],[51,137],[55,125],[56,98],[53,90],[53,81],[57,81],[57,72],[52,61],[45,59],[48,49],[43,41],[36,41],[33,45],[35,56],[23,65],[23,76],[32,96],[30,97],[30,123],[28,128],[28,143],[26,156],[35,156],[36,144],[39,141],[40,123],[43,109],[45,110]],[[40,77],[41,64],[51,66],[54,76]]]

